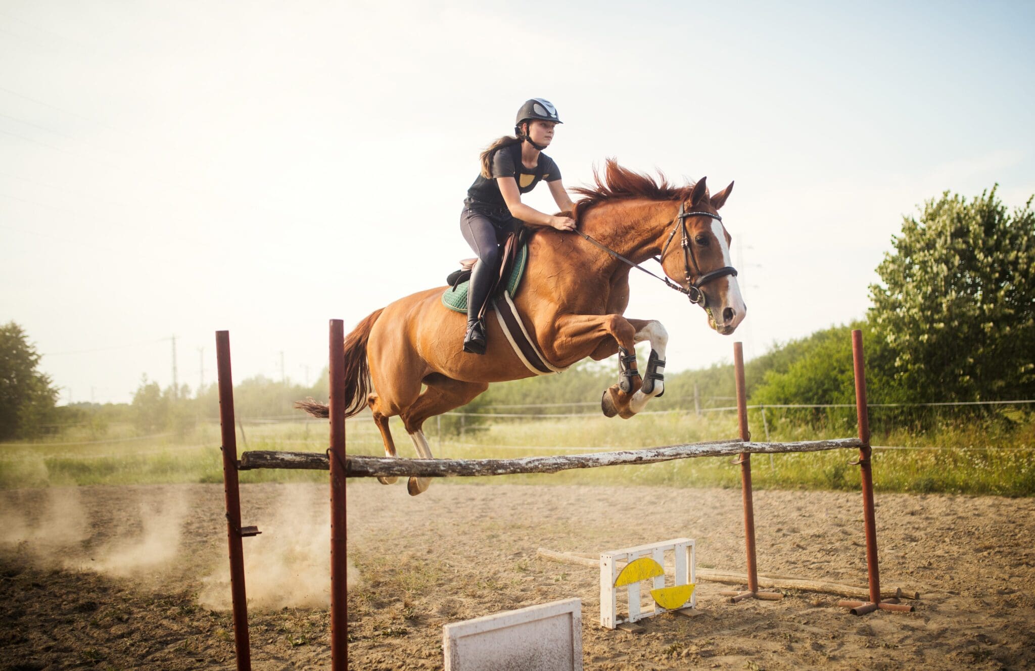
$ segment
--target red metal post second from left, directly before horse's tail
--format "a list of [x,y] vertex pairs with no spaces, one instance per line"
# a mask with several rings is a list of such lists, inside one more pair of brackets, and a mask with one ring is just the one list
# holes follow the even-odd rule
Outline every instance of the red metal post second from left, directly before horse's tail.
[[345,501],[345,324],[330,320],[330,659],[349,666]]

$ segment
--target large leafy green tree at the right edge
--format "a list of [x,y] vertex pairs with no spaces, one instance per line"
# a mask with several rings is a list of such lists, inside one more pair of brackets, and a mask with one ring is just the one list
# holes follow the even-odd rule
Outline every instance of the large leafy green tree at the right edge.
[[1010,213],[996,187],[971,201],[945,192],[892,238],[881,284],[870,286],[869,319],[914,400],[1035,392],[1031,204]]

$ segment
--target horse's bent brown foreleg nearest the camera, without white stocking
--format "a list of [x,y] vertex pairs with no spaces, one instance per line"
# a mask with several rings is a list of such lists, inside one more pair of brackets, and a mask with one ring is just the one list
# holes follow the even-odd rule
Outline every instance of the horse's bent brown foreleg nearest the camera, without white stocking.
[[622,358],[618,384],[604,390],[600,408],[609,417],[617,414],[628,419],[634,415],[630,404],[643,385],[637,370],[637,328],[621,315],[562,315],[557,318],[555,328],[553,347],[548,347],[551,350],[548,357],[555,361],[568,359],[580,351],[589,352],[596,360],[619,353]]

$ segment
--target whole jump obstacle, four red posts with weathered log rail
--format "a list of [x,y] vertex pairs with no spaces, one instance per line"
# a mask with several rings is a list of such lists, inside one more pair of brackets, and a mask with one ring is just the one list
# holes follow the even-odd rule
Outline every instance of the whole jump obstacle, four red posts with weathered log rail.
[[646,449],[630,449],[589,455],[556,457],[525,457],[521,459],[397,459],[345,454],[345,364],[343,343],[344,323],[330,322],[330,448],[324,453],[245,451],[237,460],[234,433],[234,397],[230,369],[230,336],[216,332],[216,356],[219,371],[219,421],[223,435],[224,486],[227,505],[227,537],[230,550],[231,595],[234,609],[234,644],[238,671],[252,668],[248,643],[247,606],[244,590],[244,559],[241,538],[257,535],[256,527],[241,526],[240,495],[237,472],[258,468],[330,470],[331,499],[331,668],[344,671],[348,667],[348,619],[346,613],[346,477],[416,476],[453,477],[508,475],[516,473],[555,473],[574,468],[599,468],[651,464],[675,459],[723,457],[737,455],[733,462],[741,468],[744,507],[744,536],[747,555],[746,591],[721,592],[731,603],[744,599],[776,601],[779,592],[759,589],[755,553],[755,508],[751,499],[751,455],[821,451],[858,448],[859,458],[851,462],[861,471],[863,522],[866,537],[866,568],[868,601],[842,601],[839,606],[855,615],[875,610],[912,611],[897,599],[881,597],[877,560],[877,527],[874,510],[874,479],[870,464],[869,417],[866,411],[866,378],[862,353],[862,333],[852,331],[852,355],[855,373],[858,438],[808,440],[802,442],[751,442],[747,426],[747,399],[744,385],[744,360],[740,343],[734,343],[734,369],[737,382],[737,415],[739,439],[716,440],[682,445],[666,445]]

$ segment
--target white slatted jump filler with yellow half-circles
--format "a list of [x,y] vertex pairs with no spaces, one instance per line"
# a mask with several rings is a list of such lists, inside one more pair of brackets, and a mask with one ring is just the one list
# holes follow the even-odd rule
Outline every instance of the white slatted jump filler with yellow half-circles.
[[[666,553],[672,553],[675,566],[675,584],[666,586]],[[618,564],[625,562],[619,570]],[[693,541],[673,538],[661,543],[612,550],[600,553],[600,625],[616,629],[623,622],[635,622],[658,613],[694,608]],[[670,573],[672,573],[670,571]],[[640,606],[640,583],[652,580],[650,594],[653,610],[644,611]],[[628,591],[628,614],[618,614],[618,590]]]

